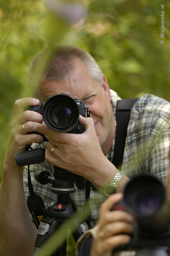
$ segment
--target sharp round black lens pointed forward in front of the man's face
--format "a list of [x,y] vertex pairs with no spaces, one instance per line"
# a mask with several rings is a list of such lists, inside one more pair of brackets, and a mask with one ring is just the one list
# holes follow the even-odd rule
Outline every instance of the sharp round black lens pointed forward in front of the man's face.
[[79,108],[69,94],[59,93],[45,102],[42,115],[50,129],[69,132],[78,124]]

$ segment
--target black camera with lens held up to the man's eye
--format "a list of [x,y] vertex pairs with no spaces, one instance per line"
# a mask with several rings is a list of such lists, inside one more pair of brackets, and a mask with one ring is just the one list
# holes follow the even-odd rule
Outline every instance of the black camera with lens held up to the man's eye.
[[88,106],[81,99],[73,99],[67,93],[58,93],[46,102],[31,106],[31,111],[40,113],[45,124],[57,132],[83,133],[84,126],[79,123],[79,115],[88,117]]

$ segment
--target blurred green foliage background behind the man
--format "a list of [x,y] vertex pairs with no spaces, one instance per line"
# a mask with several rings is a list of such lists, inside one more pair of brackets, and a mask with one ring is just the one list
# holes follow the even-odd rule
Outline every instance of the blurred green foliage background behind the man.
[[49,43],[88,51],[121,98],[170,101],[168,0],[1,0],[0,35],[0,180],[14,102],[30,96],[29,65]]

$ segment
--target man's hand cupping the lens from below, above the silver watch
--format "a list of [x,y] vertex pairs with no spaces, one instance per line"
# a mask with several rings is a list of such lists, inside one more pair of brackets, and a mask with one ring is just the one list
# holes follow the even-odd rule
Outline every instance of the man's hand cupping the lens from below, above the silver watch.
[[102,184],[103,173],[107,164],[111,163],[102,152],[93,119],[80,116],[79,122],[85,128],[82,134],[56,132],[45,124],[37,125],[37,131],[43,133],[50,141],[47,144],[45,159],[51,164],[87,178],[94,185],[96,181]]

